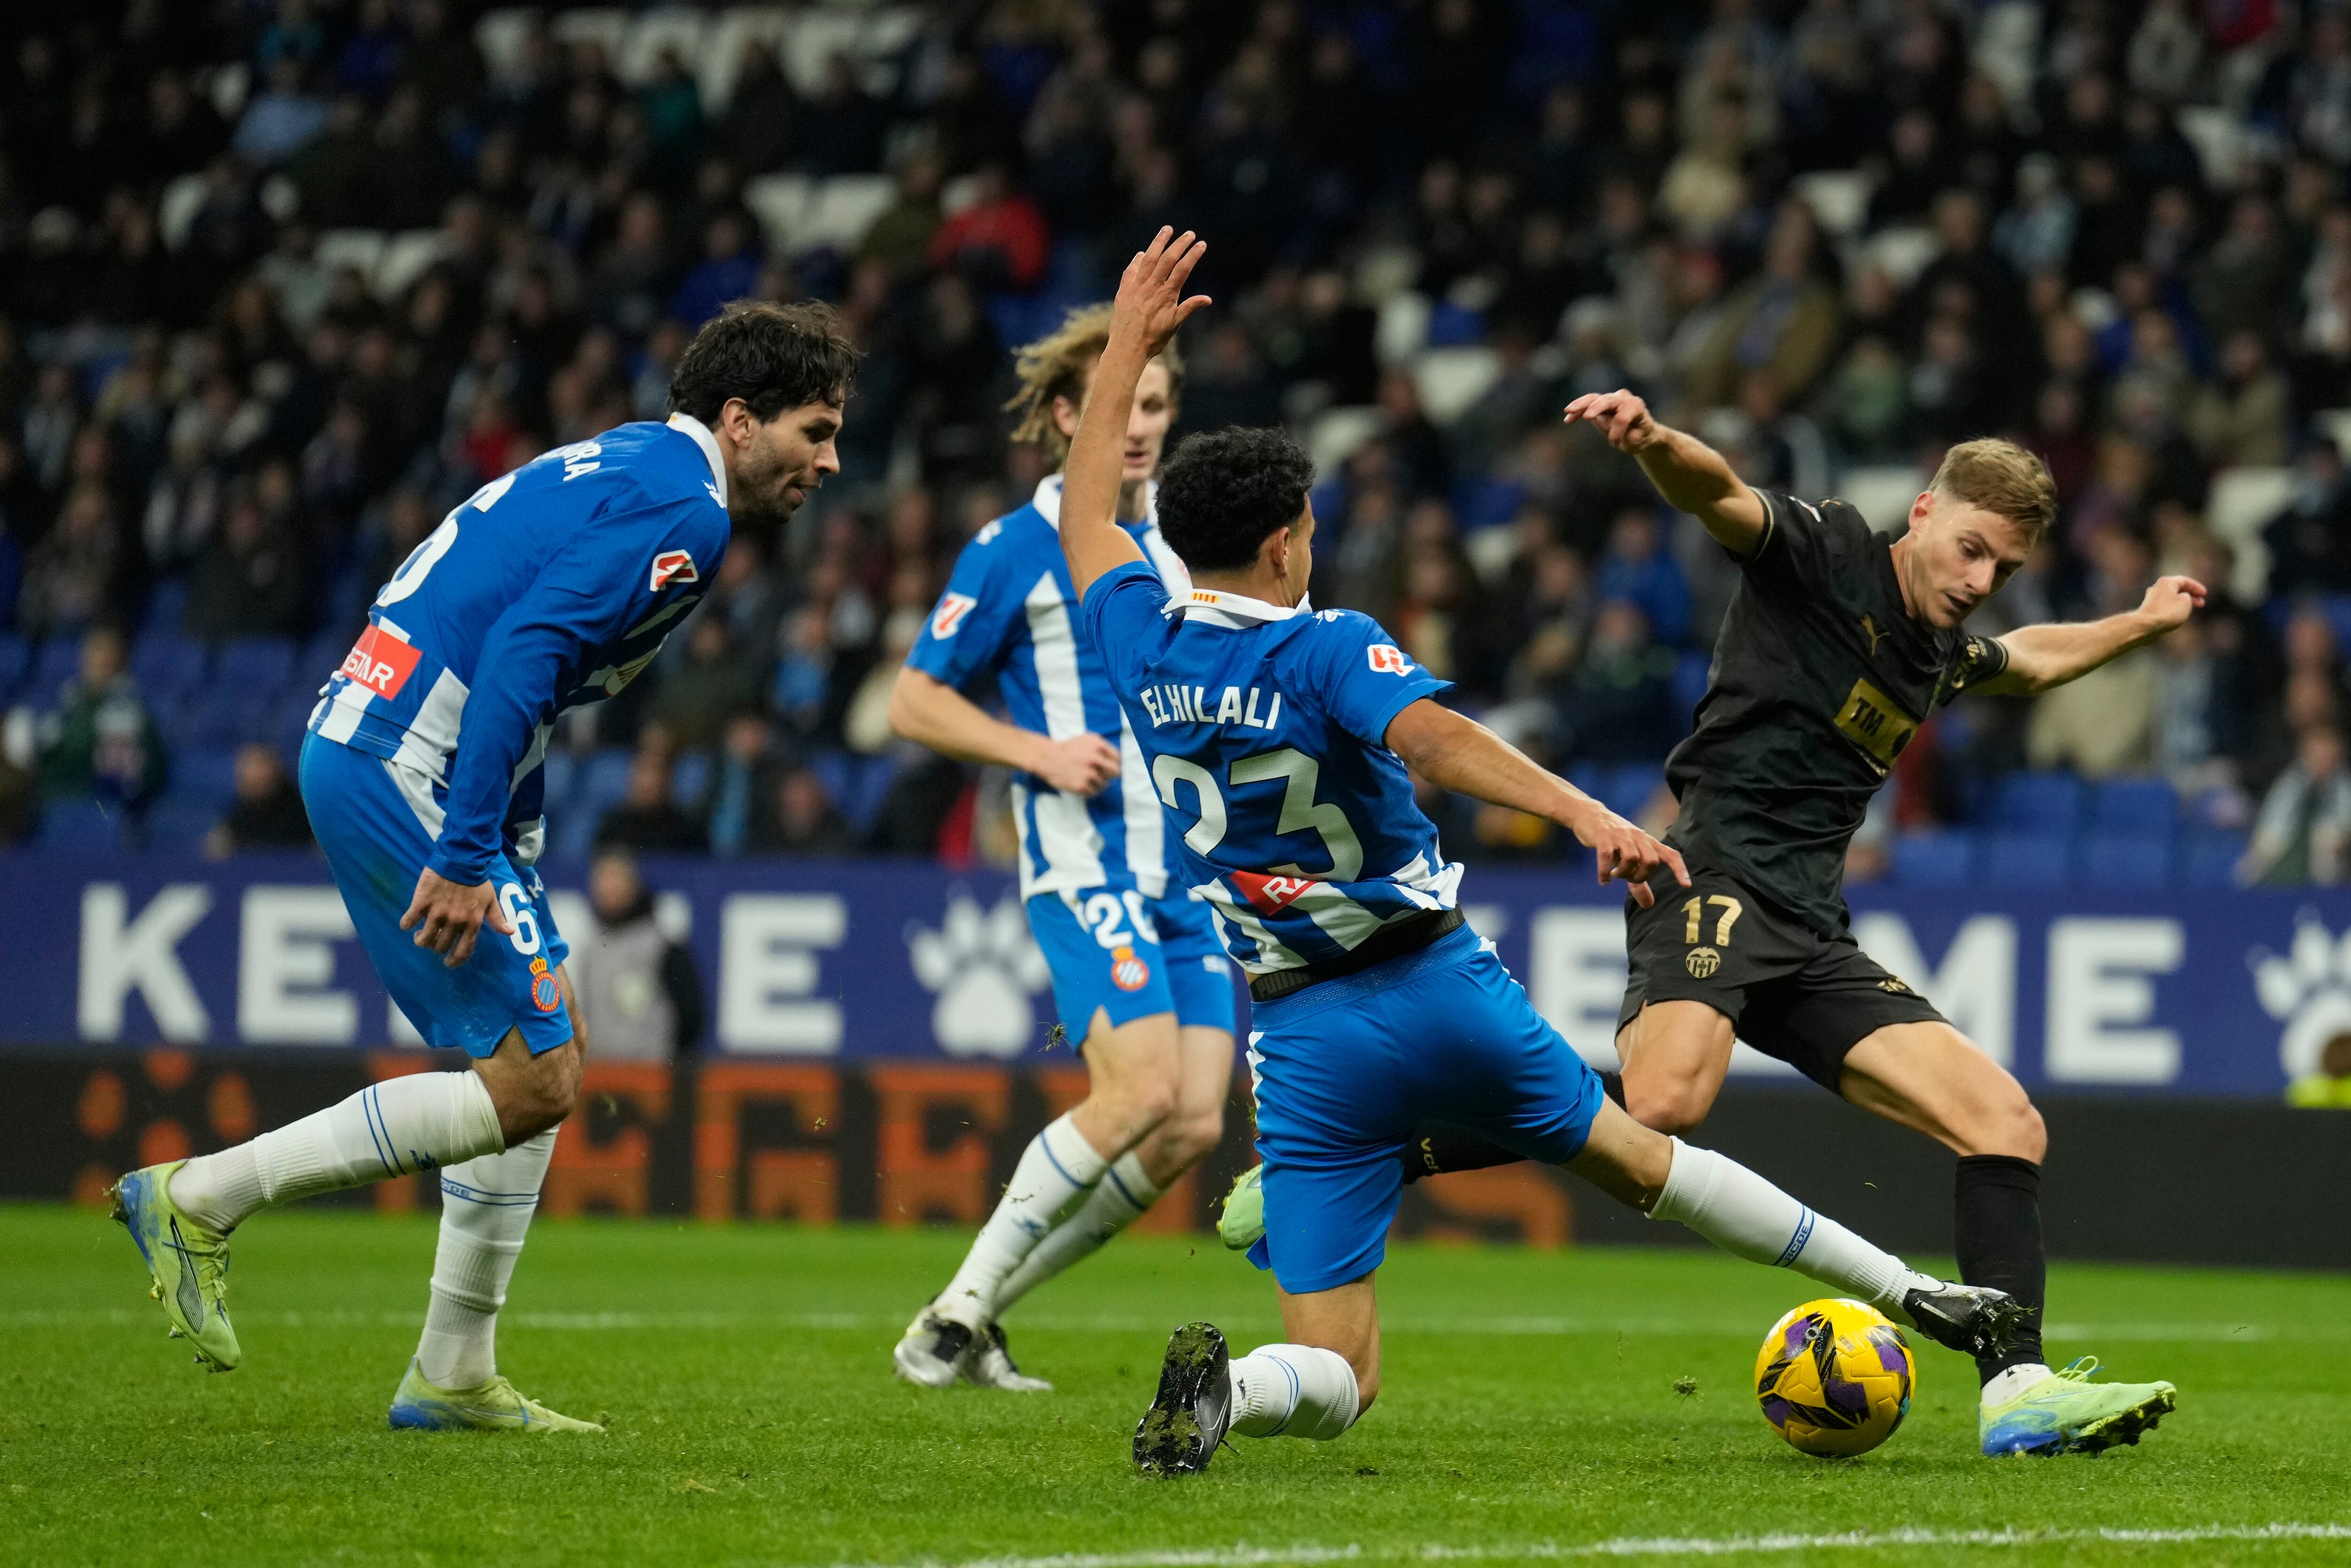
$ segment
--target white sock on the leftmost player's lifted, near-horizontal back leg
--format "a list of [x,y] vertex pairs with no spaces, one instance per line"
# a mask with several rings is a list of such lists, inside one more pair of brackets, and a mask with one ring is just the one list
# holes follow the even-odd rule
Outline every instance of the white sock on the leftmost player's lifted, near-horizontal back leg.
[[411,1072],[369,1084],[172,1173],[172,1201],[197,1222],[233,1229],[270,1204],[416,1175],[505,1147],[498,1107],[480,1072]]

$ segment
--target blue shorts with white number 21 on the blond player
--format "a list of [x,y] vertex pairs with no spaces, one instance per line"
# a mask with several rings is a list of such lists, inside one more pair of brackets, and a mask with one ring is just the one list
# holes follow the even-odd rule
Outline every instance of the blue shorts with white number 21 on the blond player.
[[1232,959],[1215,914],[1190,893],[1145,898],[1136,889],[1037,893],[1030,933],[1053,971],[1053,1009],[1077,1048],[1093,1011],[1121,1027],[1152,1013],[1178,1025],[1232,1032]]

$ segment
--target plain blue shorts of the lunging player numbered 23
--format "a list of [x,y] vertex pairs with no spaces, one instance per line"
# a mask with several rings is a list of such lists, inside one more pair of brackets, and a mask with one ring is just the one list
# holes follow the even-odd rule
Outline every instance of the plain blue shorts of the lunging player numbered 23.
[[1599,1074],[1469,926],[1260,1001],[1251,1027],[1265,1239],[1248,1255],[1291,1295],[1380,1267],[1422,1121],[1556,1166],[1601,1114]]

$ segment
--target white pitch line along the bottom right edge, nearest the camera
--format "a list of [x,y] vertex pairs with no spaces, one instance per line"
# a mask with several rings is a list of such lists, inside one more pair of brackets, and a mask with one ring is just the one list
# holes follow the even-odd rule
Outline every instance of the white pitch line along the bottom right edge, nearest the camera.
[[[1279,1568],[1281,1563],[1488,1563],[1580,1556],[1747,1556],[1780,1552],[1888,1552],[1897,1547],[2165,1547],[2196,1542],[2278,1544],[2351,1540],[2351,1523],[2189,1526],[2177,1530],[1850,1530],[1841,1535],[1620,1535],[1594,1542],[1538,1540],[1507,1547],[1201,1547],[1166,1552],[1063,1552],[1053,1556],[980,1556],[950,1563],[926,1556],[896,1568]],[[839,1566],[851,1568],[851,1566]],[[877,1568],[872,1563],[863,1568]]]

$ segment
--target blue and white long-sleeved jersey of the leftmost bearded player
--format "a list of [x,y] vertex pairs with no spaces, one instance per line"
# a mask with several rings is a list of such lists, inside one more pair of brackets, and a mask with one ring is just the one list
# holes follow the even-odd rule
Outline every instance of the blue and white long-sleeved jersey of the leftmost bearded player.
[[[320,689],[310,731],[400,762],[442,877],[538,858],[555,715],[635,679],[726,552],[726,465],[684,414],[557,447],[416,545]],[[440,785],[440,799],[435,788]]]

